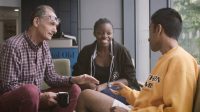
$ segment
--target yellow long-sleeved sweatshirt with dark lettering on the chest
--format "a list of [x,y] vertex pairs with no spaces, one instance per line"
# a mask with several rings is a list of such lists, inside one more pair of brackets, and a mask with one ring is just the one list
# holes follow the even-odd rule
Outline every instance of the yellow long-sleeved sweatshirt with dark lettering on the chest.
[[132,112],[192,112],[197,78],[196,60],[176,47],[160,57],[140,92],[125,87],[120,94]]

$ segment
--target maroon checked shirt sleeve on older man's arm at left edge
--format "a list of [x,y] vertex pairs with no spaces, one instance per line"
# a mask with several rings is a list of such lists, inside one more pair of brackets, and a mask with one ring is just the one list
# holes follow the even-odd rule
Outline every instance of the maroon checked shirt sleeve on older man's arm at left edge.
[[2,92],[17,88],[20,74],[20,51],[12,45],[4,44],[0,52],[0,89]]

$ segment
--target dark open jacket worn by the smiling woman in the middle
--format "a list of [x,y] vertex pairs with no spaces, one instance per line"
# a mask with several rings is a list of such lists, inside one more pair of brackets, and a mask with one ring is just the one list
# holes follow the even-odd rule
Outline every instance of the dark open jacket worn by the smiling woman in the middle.
[[[90,74],[91,56],[94,53],[96,41],[85,46],[79,53],[77,63],[74,65],[72,75]],[[135,68],[132,63],[132,58],[127,49],[119,43],[113,43],[114,70],[111,81],[119,79],[127,79],[129,87],[139,90],[139,85],[135,76]]]

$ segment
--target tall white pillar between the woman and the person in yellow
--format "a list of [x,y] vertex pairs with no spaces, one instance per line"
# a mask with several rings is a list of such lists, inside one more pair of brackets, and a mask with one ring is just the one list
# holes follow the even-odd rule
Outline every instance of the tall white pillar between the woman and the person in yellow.
[[145,82],[150,73],[149,1],[136,0],[136,76]]

